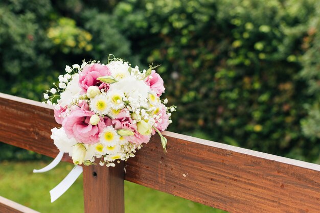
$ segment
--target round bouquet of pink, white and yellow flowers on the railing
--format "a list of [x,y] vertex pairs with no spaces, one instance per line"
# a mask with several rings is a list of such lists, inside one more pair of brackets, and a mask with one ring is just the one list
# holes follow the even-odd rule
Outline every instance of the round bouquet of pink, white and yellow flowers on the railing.
[[154,70],[157,66],[149,67],[140,70],[114,57],[106,65],[83,61],[66,66],[59,84],[44,93],[61,125],[51,130],[57,148],[75,164],[90,165],[100,158],[100,165],[114,167],[158,133],[166,151],[161,132],[172,123],[176,107],[160,99],[163,79]]

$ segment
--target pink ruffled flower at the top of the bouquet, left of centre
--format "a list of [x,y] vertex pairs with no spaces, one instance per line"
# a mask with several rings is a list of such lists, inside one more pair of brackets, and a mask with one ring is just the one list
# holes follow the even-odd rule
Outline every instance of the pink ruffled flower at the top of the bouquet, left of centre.
[[82,88],[81,94],[86,93],[89,86],[98,86],[99,89],[109,88],[108,84],[97,80],[99,77],[109,75],[111,75],[111,72],[106,65],[94,63],[85,66],[79,76],[79,86]]

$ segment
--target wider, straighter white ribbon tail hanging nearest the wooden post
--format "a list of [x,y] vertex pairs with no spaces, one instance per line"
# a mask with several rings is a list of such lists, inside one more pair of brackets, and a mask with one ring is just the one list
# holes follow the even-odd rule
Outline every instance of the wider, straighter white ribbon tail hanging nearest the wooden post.
[[82,173],[82,167],[76,165],[71,172],[56,186],[50,191],[51,202],[53,203],[61,195],[63,195],[70,186],[77,180],[77,178]]

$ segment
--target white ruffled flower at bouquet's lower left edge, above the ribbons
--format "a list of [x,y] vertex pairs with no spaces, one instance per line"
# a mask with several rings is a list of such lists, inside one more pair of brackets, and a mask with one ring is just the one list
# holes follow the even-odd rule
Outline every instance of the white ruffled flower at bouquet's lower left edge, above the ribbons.
[[61,151],[65,153],[69,153],[69,155],[72,155],[73,146],[77,144],[77,141],[75,138],[69,139],[65,132],[63,127],[60,129],[53,128],[51,130],[51,138],[53,139],[53,143],[56,145],[56,147]]

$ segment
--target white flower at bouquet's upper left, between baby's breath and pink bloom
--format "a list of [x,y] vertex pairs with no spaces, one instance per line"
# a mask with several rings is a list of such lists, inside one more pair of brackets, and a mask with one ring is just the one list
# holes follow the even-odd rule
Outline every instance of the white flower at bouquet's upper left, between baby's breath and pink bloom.
[[60,94],[59,104],[61,107],[70,105],[73,99],[80,97],[81,88],[79,87],[79,74],[73,76],[72,80],[68,83],[64,92]]

